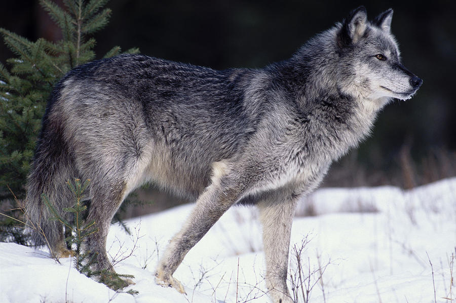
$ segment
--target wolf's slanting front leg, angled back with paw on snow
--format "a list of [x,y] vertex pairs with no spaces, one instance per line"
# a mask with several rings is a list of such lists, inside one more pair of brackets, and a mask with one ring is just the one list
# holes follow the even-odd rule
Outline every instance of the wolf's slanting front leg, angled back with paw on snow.
[[185,293],[179,281],[172,277],[186,253],[209,231],[220,216],[238,199],[240,191],[212,184],[198,198],[196,207],[180,232],[170,241],[156,272],[156,283],[171,286]]

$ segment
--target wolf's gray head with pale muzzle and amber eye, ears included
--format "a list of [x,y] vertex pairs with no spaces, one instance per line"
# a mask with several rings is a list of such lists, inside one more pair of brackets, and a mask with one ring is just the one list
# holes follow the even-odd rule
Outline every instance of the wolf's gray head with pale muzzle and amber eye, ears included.
[[409,99],[423,80],[401,64],[400,53],[391,34],[393,10],[367,20],[366,9],[359,7],[335,27],[339,89],[383,105],[391,98]]

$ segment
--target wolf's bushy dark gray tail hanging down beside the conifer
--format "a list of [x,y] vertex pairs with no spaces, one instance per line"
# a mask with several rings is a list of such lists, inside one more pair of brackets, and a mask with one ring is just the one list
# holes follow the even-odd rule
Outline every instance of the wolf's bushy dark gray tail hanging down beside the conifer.
[[[64,232],[63,225],[53,218],[56,214],[64,218],[63,208],[71,204],[66,181],[76,176],[74,156],[69,152],[64,138],[65,117],[54,112],[60,90],[61,85],[57,85],[48,102],[27,180],[25,199],[32,244],[48,245],[56,251],[65,247]],[[42,194],[48,197],[52,208],[43,201]]]

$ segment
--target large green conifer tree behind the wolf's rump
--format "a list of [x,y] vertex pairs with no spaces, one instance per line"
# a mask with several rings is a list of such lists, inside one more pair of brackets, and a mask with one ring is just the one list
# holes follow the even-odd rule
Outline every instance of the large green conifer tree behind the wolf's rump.
[[[41,6],[62,31],[57,42],[29,41],[0,28],[4,42],[16,57],[0,62],[0,205],[13,193],[25,196],[26,176],[49,94],[71,68],[95,59],[91,34],[103,28],[111,14],[107,0],[63,0],[59,7],[49,0]],[[130,49],[126,53],[138,53]],[[103,58],[121,53],[113,47]],[[14,216],[14,215],[13,215]],[[0,224],[0,232],[8,227]],[[1,236],[1,235],[0,235]]]

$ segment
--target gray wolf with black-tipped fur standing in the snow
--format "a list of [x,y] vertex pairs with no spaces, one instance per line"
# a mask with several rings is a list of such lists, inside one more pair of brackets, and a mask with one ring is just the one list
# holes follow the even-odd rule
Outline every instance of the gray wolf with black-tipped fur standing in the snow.
[[64,255],[62,226],[48,219],[40,195],[62,212],[71,201],[65,181],[91,179],[88,220],[98,232],[86,249],[100,269],[110,269],[106,235],[130,192],[153,182],[193,198],[195,209],[156,271],[158,284],[184,292],[172,275],[189,249],[231,206],[254,205],[269,294],[291,302],[286,279],[296,201],[369,134],[379,110],[422,84],[401,64],[392,14],[370,22],[360,7],[290,59],[259,69],[121,55],[71,70],[47,106],[27,212]]

